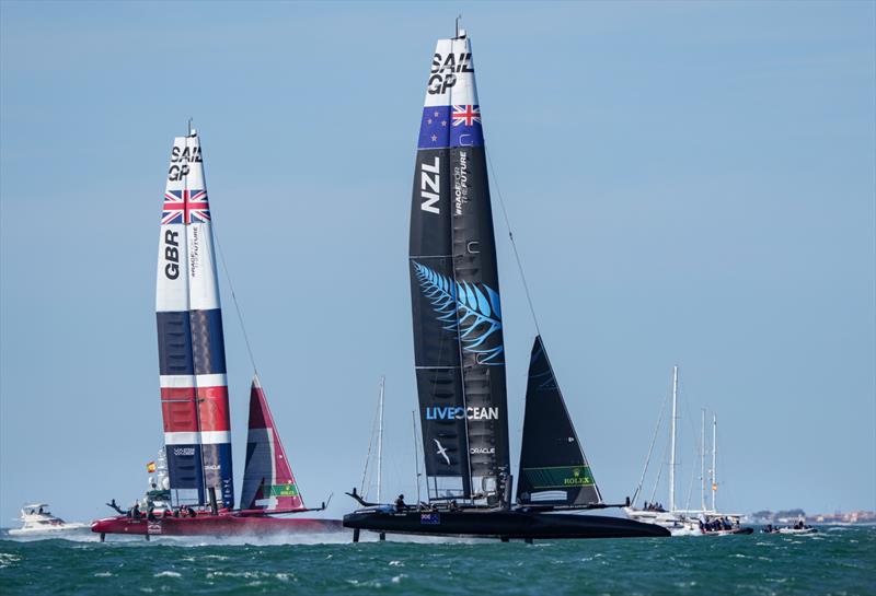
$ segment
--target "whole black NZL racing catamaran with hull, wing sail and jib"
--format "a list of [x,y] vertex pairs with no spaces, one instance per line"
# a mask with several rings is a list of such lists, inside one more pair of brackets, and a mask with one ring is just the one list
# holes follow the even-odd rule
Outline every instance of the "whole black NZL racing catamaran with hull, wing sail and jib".
[[411,209],[414,355],[428,503],[367,503],[344,516],[381,534],[503,540],[669,536],[603,509],[537,337],[517,500],[508,446],[498,266],[474,62],[464,31],[438,42],[419,129]]

